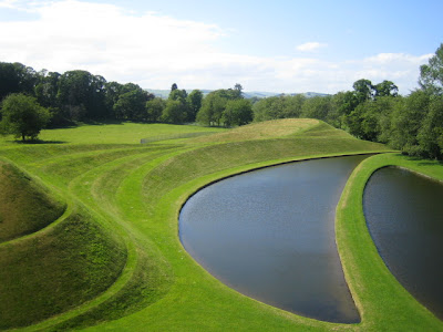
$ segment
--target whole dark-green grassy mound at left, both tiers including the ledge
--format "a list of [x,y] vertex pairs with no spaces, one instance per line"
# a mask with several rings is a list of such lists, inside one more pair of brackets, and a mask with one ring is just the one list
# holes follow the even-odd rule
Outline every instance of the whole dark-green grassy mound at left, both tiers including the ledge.
[[0,170],[0,226],[9,235],[0,243],[1,330],[74,308],[119,278],[126,255],[120,239],[16,166],[1,162]]

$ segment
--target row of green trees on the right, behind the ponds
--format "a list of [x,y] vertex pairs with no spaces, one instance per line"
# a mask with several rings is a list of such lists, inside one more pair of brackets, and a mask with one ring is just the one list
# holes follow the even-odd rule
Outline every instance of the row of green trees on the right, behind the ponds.
[[318,118],[409,155],[443,159],[443,44],[420,68],[419,84],[408,96],[399,95],[391,81],[372,84],[363,79],[353,91],[324,97],[268,97],[254,105],[254,121]]

